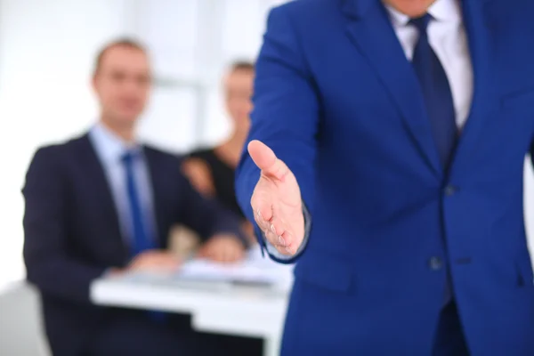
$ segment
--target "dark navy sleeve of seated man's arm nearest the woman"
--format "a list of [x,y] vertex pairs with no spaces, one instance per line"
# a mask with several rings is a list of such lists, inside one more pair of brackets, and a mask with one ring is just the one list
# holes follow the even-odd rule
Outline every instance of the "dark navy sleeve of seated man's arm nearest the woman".
[[183,197],[178,223],[196,231],[205,241],[217,234],[231,234],[248,247],[246,234],[241,230],[238,216],[214,200],[202,197],[183,174],[179,174],[179,181]]

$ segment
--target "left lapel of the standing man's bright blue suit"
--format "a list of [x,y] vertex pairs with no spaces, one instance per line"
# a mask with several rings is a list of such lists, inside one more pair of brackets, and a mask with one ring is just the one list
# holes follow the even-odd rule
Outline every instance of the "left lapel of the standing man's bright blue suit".
[[411,63],[378,0],[345,0],[346,32],[399,109],[411,138],[435,174],[442,173],[425,101]]

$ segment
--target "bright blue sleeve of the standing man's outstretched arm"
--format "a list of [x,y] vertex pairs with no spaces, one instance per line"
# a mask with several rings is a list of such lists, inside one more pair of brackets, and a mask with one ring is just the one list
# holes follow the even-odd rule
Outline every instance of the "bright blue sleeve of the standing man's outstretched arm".
[[[290,10],[290,6],[283,5],[269,15],[256,63],[255,109],[248,141],[264,142],[287,164],[299,183],[305,206],[313,214],[319,98]],[[236,176],[236,192],[239,205],[250,221],[254,221],[250,199],[259,176],[259,169],[244,150]],[[256,235],[265,247],[257,227]],[[276,255],[271,257],[280,261]]]

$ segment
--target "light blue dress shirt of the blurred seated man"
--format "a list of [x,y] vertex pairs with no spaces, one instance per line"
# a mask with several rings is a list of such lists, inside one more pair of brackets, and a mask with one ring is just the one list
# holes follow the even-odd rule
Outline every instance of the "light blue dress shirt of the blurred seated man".
[[132,214],[128,202],[126,188],[126,172],[122,157],[126,151],[138,151],[139,159],[134,161],[134,177],[137,192],[141,199],[142,214],[148,216],[150,236],[157,237],[156,216],[154,213],[154,201],[152,182],[147,160],[144,156],[142,145],[122,140],[117,134],[111,132],[101,122],[93,126],[89,132],[89,140],[93,144],[96,155],[104,169],[104,174],[109,184],[111,195],[117,209],[117,215],[121,233],[126,244],[130,244],[133,234]]

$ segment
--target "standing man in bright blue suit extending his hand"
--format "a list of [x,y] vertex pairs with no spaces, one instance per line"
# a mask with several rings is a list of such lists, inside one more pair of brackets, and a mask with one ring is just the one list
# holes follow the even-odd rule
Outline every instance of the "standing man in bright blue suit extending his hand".
[[298,260],[282,355],[534,354],[532,13],[530,0],[271,12],[237,189],[272,258]]

